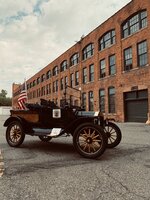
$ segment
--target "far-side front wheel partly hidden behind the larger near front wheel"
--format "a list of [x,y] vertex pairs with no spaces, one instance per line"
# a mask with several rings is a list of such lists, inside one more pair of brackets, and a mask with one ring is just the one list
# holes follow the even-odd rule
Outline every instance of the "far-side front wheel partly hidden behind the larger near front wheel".
[[114,148],[121,142],[121,130],[115,123],[108,122],[104,131],[108,137],[107,148]]

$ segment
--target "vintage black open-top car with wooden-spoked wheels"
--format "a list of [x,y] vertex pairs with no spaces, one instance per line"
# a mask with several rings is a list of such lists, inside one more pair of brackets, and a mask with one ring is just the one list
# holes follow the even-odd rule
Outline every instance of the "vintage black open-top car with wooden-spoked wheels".
[[116,147],[121,141],[119,127],[104,119],[100,112],[86,112],[80,107],[56,106],[41,100],[41,104],[26,104],[27,110],[11,110],[5,121],[6,140],[18,147],[25,135],[38,136],[44,142],[62,135],[72,135],[77,152],[86,158],[102,155],[106,148]]

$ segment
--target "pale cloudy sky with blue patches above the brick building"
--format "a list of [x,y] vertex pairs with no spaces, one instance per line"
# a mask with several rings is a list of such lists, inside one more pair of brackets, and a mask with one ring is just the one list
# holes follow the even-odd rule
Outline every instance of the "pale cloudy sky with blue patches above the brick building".
[[0,0],[0,91],[23,83],[130,0]]

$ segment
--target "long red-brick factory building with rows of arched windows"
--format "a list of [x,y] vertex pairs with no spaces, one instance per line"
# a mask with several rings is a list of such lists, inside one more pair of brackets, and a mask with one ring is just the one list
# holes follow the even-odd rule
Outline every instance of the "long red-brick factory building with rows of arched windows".
[[[65,85],[68,85],[65,93]],[[71,89],[71,87],[75,88]],[[70,92],[68,92],[70,90]],[[13,106],[20,86],[13,84]],[[27,80],[28,101],[58,105],[64,95],[117,121],[150,113],[150,1],[132,0]]]

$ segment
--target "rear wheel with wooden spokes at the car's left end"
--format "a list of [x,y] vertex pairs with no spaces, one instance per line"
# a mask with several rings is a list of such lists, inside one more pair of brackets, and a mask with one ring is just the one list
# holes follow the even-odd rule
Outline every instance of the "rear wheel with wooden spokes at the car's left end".
[[11,147],[20,146],[25,139],[25,133],[20,122],[11,122],[6,130],[6,141]]

